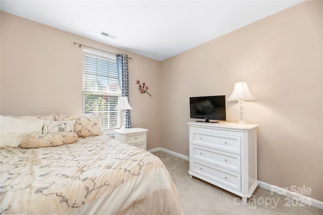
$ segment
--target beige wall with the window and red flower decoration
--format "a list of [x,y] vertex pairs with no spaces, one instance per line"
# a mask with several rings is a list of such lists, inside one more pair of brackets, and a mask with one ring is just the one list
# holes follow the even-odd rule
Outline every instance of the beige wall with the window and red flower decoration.
[[[149,129],[147,149],[160,146],[160,62],[1,12],[1,114],[82,113],[82,48],[127,53],[132,127]],[[143,95],[137,80],[153,95]]]

